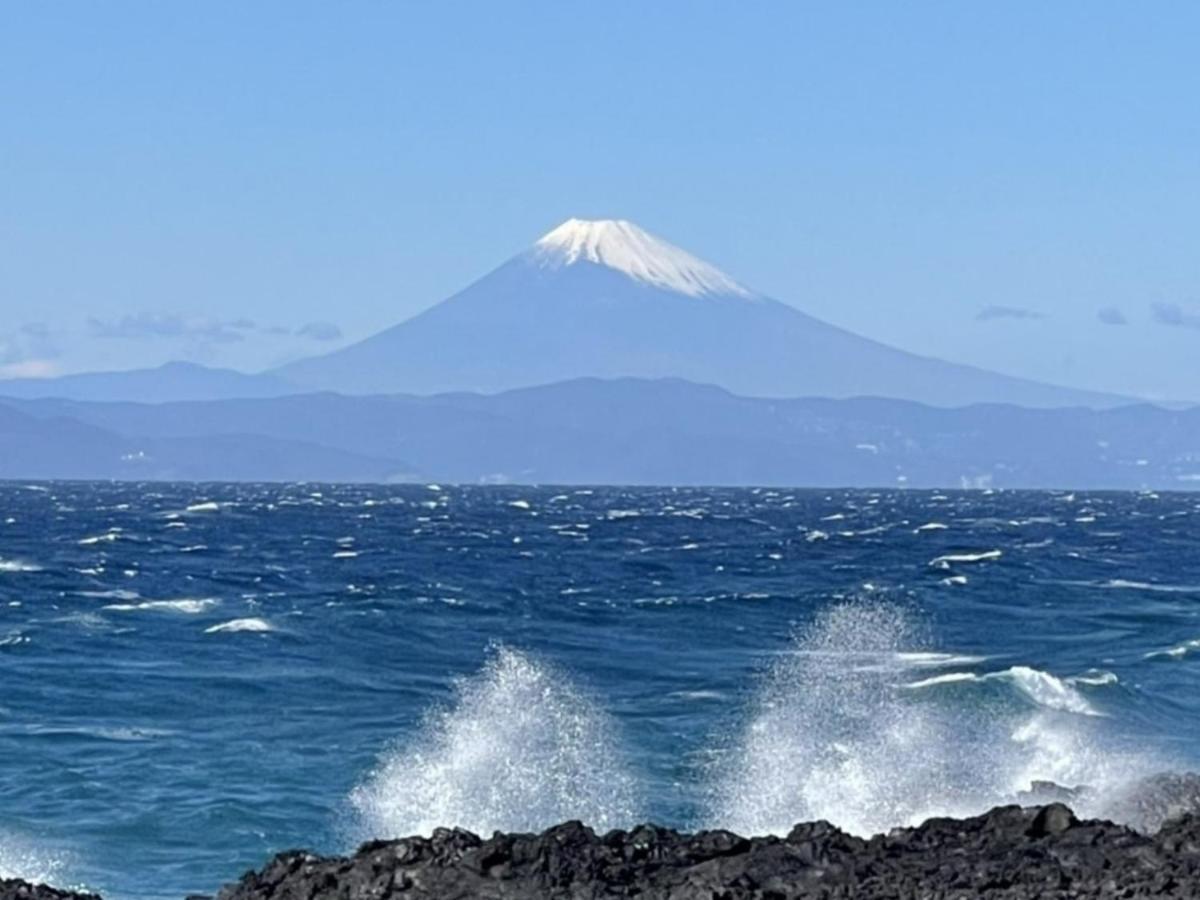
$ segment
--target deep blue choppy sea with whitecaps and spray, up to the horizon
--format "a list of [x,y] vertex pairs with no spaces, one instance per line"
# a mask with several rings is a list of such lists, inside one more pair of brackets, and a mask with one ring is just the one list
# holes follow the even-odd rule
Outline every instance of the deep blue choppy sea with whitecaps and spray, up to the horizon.
[[0,485],[0,874],[1194,768],[1198,551],[1194,494]]

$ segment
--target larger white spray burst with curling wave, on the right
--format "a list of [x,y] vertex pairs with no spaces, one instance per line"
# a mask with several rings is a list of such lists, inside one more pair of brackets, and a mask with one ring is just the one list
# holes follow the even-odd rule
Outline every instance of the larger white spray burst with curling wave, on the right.
[[710,774],[708,824],[779,834],[824,818],[869,835],[1013,803],[1034,780],[1092,785],[1100,803],[1152,770],[1050,673],[916,680],[914,660],[936,659],[918,622],[899,606],[846,602],[802,631]]

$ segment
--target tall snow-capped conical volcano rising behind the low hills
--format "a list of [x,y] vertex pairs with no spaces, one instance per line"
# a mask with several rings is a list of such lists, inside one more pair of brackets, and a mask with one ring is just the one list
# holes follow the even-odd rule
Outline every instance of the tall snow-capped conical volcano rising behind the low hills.
[[344,394],[492,394],[580,377],[638,377],[761,397],[1123,402],[862,337],[619,220],[569,220],[407,322],[271,374],[301,389]]

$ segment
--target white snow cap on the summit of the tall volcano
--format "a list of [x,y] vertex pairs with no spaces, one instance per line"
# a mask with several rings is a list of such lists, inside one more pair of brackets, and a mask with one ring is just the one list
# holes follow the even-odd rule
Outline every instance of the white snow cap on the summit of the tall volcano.
[[569,218],[534,245],[532,257],[546,268],[581,260],[606,265],[689,296],[754,296],[720,269],[619,218]]

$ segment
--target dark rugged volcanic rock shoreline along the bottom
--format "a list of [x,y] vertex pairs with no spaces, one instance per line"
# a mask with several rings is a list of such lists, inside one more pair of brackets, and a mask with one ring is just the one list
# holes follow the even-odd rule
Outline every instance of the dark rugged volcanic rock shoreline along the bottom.
[[[1061,803],[934,818],[870,839],[828,822],[786,838],[642,826],[598,835],[568,822],[541,834],[373,841],[350,857],[280,853],[216,900],[788,900],[856,898],[1196,898],[1200,815],[1154,834],[1080,821]],[[97,900],[0,881],[0,900]],[[191,900],[196,900],[194,898]]]

